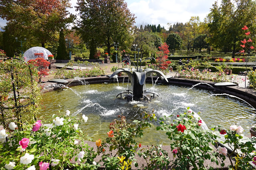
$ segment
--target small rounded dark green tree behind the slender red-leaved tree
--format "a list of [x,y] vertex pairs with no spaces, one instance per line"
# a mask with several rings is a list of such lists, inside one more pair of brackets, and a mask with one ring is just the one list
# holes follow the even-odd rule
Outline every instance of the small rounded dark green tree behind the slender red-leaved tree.
[[182,39],[178,34],[171,33],[166,39],[167,45],[169,45],[169,50],[171,50],[171,53],[173,54],[175,52],[176,48],[180,48],[182,44]]

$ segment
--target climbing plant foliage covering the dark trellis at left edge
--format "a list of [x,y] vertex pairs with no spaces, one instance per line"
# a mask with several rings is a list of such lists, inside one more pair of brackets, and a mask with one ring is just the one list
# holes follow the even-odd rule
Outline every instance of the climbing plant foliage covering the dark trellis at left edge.
[[18,59],[0,59],[0,77],[1,125],[7,128],[13,119],[18,125],[33,121],[42,100],[37,68]]

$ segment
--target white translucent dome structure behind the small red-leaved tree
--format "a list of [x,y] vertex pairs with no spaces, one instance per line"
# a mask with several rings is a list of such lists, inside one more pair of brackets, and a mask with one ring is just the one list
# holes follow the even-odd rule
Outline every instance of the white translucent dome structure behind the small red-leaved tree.
[[[42,53],[40,56],[35,54]],[[44,48],[44,47],[31,47],[26,52],[24,52],[23,58],[25,61],[28,61],[30,59],[36,59],[38,57],[44,57],[44,59],[48,59],[48,55],[52,55],[52,53]]]

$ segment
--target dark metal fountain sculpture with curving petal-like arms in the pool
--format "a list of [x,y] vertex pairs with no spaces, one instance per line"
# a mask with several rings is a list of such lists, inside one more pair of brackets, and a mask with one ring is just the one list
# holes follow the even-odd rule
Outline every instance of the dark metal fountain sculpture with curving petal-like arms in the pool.
[[[138,48],[138,53],[139,53],[139,48]],[[165,81],[168,82],[167,77],[159,70],[153,70],[150,68],[147,69],[141,69],[141,65],[142,63],[144,63],[146,60],[150,61],[155,61],[154,57],[148,57],[146,58],[143,62],[141,62],[141,58],[139,59],[139,57],[137,57],[137,69],[129,69],[129,68],[122,68],[122,69],[118,69],[117,71],[115,71],[109,78],[114,77],[115,75],[117,75],[120,72],[124,72],[128,75],[129,80],[131,82],[131,85],[133,87],[133,90],[127,90],[125,92],[119,93],[117,95],[117,97],[120,95],[120,97],[122,97],[122,94],[126,94],[125,95],[125,99],[127,99],[127,101],[141,101],[141,100],[147,100],[147,101],[151,101],[151,98],[155,97],[155,95],[158,97],[158,95],[156,93],[153,92],[149,92],[149,91],[143,91],[143,85],[145,83],[145,80],[147,79],[147,77],[149,75],[151,75],[151,73],[156,73],[158,77],[160,77],[161,79],[165,79]],[[127,59],[123,59],[123,61],[126,61]],[[140,67],[138,67],[138,63],[139,61],[141,62]],[[133,61],[131,61],[133,63],[133,65],[135,65],[135,63]],[[136,67],[136,65],[135,65]]]

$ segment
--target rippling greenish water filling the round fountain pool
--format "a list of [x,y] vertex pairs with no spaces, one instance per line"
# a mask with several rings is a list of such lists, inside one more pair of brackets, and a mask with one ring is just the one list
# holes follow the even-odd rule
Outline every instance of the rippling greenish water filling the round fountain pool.
[[[124,99],[116,98],[116,95],[126,89],[118,87],[117,83],[102,83],[81,85],[72,89],[63,89],[44,94],[44,106],[46,108],[41,115],[50,123],[52,114],[59,115],[70,110],[71,114],[80,113],[89,117],[87,123],[83,123],[83,130],[92,136],[93,140],[107,137],[109,124],[117,115],[123,114],[127,120],[142,119],[143,113],[154,113],[156,116],[170,116],[174,119],[177,114],[183,113],[187,107],[194,112],[202,112],[200,117],[210,128],[212,125],[222,125],[229,128],[230,125],[241,125],[245,134],[249,133],[249,127],[256,123],[254,119],[256,111],[246,102],[227,95],[213,95],[212,91],[202,89],[189,89],[175,85],[147,84],[146,89],[159,95],[152,102],[132,101],[127,103]],[[129,85],[129,89],[131,86]],[[189,90],[188,90],[189,89]],[[81,117],[81,115],[77,115]],[[154,123],[157,126],[157,123]],[[152,132],[155,138],[152,138]],[[248,135],[248,134],[246,134]],[[142,144],[169,144],[165,132],[156,131],[155,128],[145,129]]]

